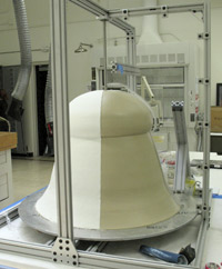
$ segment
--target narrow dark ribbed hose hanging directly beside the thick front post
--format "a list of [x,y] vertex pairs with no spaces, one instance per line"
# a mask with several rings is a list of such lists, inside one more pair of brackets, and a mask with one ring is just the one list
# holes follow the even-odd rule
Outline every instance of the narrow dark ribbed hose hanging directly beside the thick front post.
[[51,51],[49,54],[49,68],[47,73],[47,83],[44,91],[44,117],[46,123],[53,121],[53,107],[52,107],[52,81],[51,81]]

